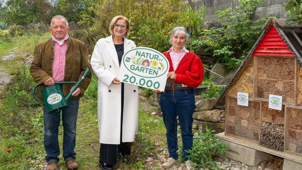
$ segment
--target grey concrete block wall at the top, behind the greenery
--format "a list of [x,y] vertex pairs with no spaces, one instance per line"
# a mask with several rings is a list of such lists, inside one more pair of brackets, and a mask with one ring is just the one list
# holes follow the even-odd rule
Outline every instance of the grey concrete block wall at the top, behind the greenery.
[[[257,7],[253,19],[257,20],[267,15],[277,16],[284,18],[285,8],[282,4],[287,3],[289,0],[264,0]],[[216,11],[223,11],[228,7],[238,5],[238,0],[192,0],[193,9],[196,11],[201,5],[206,7],[205,21],[219,21]]]

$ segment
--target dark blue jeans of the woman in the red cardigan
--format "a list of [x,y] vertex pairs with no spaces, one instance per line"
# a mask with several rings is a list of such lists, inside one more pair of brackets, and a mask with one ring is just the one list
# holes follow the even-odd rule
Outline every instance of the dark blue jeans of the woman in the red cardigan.
[[182,139],[182,155],[185,161],[188,160],[189,150],[193,145],[192,133],[192,115],[195,110],[194,90],[165,90],[160,95],[160,107],[163,113],[164,123],[167,129],[167,144],[169,157],[177,159],[177,119],[180,122],[181,139]]

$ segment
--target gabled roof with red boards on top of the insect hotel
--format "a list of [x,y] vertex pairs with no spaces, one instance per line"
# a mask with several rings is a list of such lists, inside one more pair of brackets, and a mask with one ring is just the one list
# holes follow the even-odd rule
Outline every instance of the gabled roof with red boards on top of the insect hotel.
[[284,19],[270,17],[252,49],[229,81],[216,104],[225,102],[225,92],[236,81],[237,74],[252,56],[285,56],[295,57],[302,66],[302,24],[287,25]]

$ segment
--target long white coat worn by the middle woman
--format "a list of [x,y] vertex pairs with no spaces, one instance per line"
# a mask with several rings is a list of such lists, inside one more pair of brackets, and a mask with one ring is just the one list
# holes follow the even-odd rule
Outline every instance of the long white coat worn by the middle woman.
[[[124,38],[124,52],[135,48]],[[120,144],[121,134],[121,84],[112,84],[120,65],[112,35],[100,39],[91,57],[91,67],[98,77],[98,126],[101,144]],[[133,142],[138,127],[137,86],[124,85],[124,112],[122,142]]]

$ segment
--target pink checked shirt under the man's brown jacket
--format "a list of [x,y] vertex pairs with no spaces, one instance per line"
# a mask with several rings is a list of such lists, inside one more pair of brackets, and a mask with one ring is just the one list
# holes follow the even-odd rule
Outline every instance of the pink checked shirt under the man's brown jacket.
[[54,43],[53,45],[53,64],[52,64],[52,79],[54,82],[64,81],[65,73],[65,57],[67,51],[67,39],[69,38],[68,34],[66,35],[63,44],[60,45],[58,40],[53,36],[51,37]]

